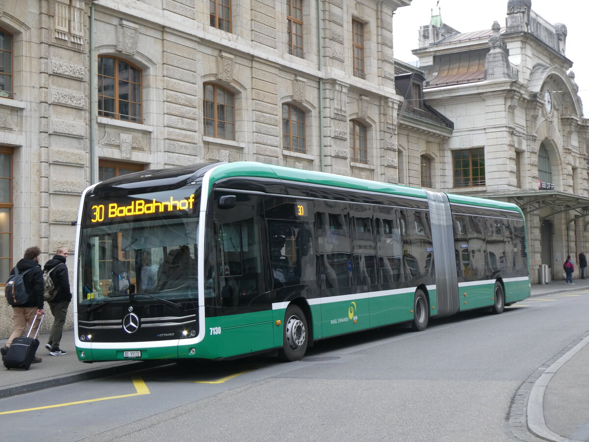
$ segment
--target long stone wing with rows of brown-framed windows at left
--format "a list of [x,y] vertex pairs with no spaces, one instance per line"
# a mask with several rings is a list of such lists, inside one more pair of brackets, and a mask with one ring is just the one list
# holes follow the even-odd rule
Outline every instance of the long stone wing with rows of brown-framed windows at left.
[[0,0],[1,273],[34,244],[74,250],[82,190],[129,171],[254,160],[397,182],[392,15],[410,2]]

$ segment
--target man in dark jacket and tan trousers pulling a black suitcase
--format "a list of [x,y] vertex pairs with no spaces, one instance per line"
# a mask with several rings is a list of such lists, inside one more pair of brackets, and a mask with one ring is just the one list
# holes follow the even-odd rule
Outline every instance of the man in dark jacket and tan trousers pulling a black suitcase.
[[[12,305],[12,334],[6,341],[6,346],[0,348],[0,352],[4,357],[8,352],[8,348],[12,344],[12,339],[20,338],[25,335],[26,331],[31,328],[32,321],[35,320],[35,316],[41,316],[45,314],[43,309],[43,271],[41,265],[39,265],[39,255],[41,255],[41,249],[37,246],[29,247],[25,250],[24,258],[16,263],[16,266],[10,272],[11,278],[6,282],[6,288],[8,289],[11,284],[11,289],[14,291],[14,299],[10,304]],[[21,273],[22,279],[14,278],[14,275]],[[16,281],[16,282],[15,282]],[[20,293],[23,291],[28,296],[24,296],[21,299]],[[37,334],[37,328],[39,327],[40,321],[35,321],[35,325],[31,330],[31,336]],[[32,362],[41,362],[42,359],[38,358],[37,355],[33,358]]]

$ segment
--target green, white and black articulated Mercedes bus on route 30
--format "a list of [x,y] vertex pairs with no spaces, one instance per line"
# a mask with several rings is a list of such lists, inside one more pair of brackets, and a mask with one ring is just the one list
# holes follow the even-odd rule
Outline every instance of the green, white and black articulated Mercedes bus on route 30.
[[75,247],[85,362],[305,355],[530,296],[514,204],[254,162],[88,187]]

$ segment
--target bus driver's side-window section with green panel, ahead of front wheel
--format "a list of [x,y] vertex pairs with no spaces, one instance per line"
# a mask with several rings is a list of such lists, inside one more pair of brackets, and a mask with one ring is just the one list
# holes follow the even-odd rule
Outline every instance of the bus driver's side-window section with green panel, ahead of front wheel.
[[[235,203],[222,202],[228,200],[221,200],[223,196],[235,197]],[[221,326],[224,348],[229,352],[226,356],[274,346],[272,303],[264,278],[263,213],[258,195],[214,192],[221,306],[221,315],[214,321]]]

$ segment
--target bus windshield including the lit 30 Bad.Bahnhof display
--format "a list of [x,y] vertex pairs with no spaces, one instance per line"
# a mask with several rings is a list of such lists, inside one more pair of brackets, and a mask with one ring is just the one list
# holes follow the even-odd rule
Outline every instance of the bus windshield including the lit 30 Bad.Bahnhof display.
[[192,186],[88,197],[79,245],[80,305],[130,297],[196,300],[199,194]]

